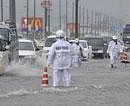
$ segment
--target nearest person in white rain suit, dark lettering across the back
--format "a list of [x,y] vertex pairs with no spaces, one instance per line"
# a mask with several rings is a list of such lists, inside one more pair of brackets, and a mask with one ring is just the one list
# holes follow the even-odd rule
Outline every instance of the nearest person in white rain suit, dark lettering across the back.
[[48,55],[48,65],[53,67],[53,86],[59,86],[60,80],[65,86],[70,85],[71,74],[71,44],[65,41],[65,34],[62,30],[56,32],[57,41],[52,44]]

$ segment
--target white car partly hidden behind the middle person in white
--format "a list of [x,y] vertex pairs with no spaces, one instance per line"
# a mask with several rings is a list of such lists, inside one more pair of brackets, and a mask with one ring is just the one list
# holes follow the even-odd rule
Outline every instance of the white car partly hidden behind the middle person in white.
[[[69,41],[71,44],[75,43],[75,40]],[[87,60],[92,56],[92,47],[88,46],[88,42],[86,40],[79,40],[79,44],[83,47],[83,55],[85,56],[82,60]]]

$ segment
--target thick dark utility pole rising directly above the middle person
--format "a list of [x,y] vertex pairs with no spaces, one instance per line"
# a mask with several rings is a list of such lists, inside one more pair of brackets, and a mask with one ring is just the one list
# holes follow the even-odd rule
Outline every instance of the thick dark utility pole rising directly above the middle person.
[[78,2],[75,0],[75,38],[78,38]]

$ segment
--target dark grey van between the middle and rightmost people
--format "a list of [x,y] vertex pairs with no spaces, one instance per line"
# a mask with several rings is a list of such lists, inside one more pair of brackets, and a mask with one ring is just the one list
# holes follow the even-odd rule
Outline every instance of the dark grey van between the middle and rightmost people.
[[102,37],[85,37],[84,39],[87,40],[89,46],[92,46],[92,54],[94,56],[100,56],[104,58],[106,50]]

